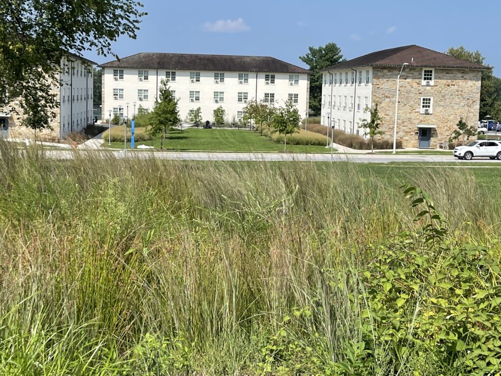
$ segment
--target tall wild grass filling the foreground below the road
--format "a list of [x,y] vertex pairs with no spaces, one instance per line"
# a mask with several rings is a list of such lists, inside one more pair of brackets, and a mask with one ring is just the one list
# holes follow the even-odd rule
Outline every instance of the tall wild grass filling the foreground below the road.
[[[458,242],[499,256],[498,196],[464,171],[0,154],[3,375],[445,374],[448,352],[409,324],[414,295],[392,305],[397,280],[382,307],[406,326],[386,338],[378,257]],[[423,243],[404,182],[434,198],[448,240]]]

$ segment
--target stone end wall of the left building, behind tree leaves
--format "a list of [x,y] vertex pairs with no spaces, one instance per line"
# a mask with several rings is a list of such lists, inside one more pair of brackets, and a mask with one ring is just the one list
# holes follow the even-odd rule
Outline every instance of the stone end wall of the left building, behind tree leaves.
[[[52,93],[56,94],[56,100],[60,102],[60,87],[59,85],[54,85],[52,87]],[[54,109],[55,117],[51,119],[50,126],[52,129],[40,129],[35,132],[34,129],[25,127],[21,125],[21,122],[25,118],[23,109],[20,106],[19,100],[13,101],[10,106],[13,106],[18,113],[11,112],[11,117],[9,118],[9,138],[29,138],[33,139],[36,137],[39,141],[51,141],[59,142],[60,140],[60,126],[61,126],[61,113],[60,108]]]

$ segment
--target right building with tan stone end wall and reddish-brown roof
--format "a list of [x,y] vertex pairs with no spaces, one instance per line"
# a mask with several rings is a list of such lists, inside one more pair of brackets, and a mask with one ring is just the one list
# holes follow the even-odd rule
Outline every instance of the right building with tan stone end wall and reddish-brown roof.
[[403,147],[435,148],[449,139],[460,118],[478,121],[485,66],[416,45],[377,51],[324,69],[322,124],[363,135],[376,103],[380,138],[393,139],[400,75],[397,140]]

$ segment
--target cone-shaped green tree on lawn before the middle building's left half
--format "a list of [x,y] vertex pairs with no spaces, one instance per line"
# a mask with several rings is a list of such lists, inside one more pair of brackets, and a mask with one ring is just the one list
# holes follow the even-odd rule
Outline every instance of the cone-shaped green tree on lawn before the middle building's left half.
[[160,149],[163,149],[165,133],[167,130],[178,125],[180,121],[177,100],[169,90],[167,81],[162,79],[159,88],[159,98],[156,99],[155,106],[151,112],[147,132],[152,136],[162,133]]

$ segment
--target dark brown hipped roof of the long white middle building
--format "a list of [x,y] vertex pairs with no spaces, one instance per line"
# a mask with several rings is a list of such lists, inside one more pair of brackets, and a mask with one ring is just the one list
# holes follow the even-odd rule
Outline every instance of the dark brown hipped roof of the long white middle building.
[[146,68],[226,72],[310,73],[269,56],[167,54],[142,52],[101,64],[101,68]]

